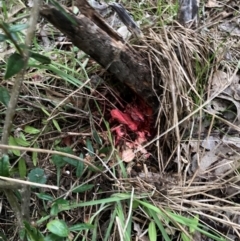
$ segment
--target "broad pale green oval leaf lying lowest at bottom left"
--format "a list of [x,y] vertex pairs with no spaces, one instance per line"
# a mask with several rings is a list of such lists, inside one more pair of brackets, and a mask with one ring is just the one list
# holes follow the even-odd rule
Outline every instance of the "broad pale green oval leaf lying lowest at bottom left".
[[47,224],[47,229],[59,236],[59,237],[67,237],[69,234],[69,229],[67,224],[63,220],[52,220]]

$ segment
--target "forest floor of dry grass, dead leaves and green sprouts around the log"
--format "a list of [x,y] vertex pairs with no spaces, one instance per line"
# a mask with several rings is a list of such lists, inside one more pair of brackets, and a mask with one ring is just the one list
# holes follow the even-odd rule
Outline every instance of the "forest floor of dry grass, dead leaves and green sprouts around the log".
[[[1,19],[20,46],[32,1],[8,2]],[[90,3],[129,34],[107,3]],[[174,0],[121,4],[144,34],[126,41],[161,73],[159,110],[39,18],[32,51],[51,63],[29,60],[8,152],[9,176],[39,186],[13,189],[23,232],[1,193],[0,240],[240,240],[238,1],[200,1],[196,29],[178,25]],[[1,136],[16,48],[0,44]]]

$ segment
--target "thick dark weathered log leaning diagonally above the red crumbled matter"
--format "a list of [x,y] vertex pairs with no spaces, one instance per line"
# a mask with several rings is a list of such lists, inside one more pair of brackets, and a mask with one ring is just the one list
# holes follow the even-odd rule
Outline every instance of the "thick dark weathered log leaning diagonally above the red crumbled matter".
[[78,0],[76,5],[81,11],[78,18],[50,5],[44,5],[40,14],[150,107],[157,109],[159,103],[152,90],[153,76],[148,61],[124,42],[86,0]]

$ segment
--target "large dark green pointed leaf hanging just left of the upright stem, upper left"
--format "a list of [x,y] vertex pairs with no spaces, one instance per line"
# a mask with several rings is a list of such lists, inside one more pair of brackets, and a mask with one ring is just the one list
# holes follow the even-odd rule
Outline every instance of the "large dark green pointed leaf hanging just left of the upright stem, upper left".
[[23,69],[24,65],[25,63],[23,57],[20,54],[12,54],[7,61],[7,69],[4,79],[9,79],[13,75],[19,73]]

